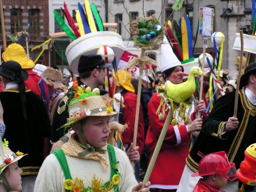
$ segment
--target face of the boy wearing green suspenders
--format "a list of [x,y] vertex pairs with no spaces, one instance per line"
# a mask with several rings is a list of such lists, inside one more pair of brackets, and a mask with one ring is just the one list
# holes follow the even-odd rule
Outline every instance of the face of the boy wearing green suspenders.
[[[107,144],[108,136],[109,136],[109,116],[90,116],[83,123],[82,130],[84,132],[84,136],[87,142],[94,147],[103,147]],[[79,134],[77,132],[77,134]],[[80,136],[79,136],[80,138]],[[84,143],[80,138],[79,142]]]

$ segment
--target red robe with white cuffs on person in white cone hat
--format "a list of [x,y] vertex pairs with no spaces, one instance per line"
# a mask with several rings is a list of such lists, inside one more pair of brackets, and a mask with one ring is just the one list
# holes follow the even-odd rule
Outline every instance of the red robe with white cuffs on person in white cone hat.
[[[160,100],[157,93],[154,93],[148,103],[149,127],[145,145],[148,150],[151,151],[151,157],[169,112],[169,110],[167,110],[164,119],[159,120],[156,111],[160,105]],[[162,108],[160,112],[162,112]],[[149,178],[151,184],[164,185],[165,188],[162,189],[172,189],[170,188],[171,185],[179,184],[185,166],[185,159],[189,154],[189,142],[190,134],[187,133],[186,125],[180,125],[179,127],[177,125],[169,125],[166,137],[164,138],[161,150]],[[161,186],[157,188],[161,188]]]

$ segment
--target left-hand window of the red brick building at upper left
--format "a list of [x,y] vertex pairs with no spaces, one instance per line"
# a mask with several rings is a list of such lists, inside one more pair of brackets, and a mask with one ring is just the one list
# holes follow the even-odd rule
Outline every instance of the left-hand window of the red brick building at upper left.
[[[1,8],[2,9],[2,8]],[[21,9],[11,9],[11,33],[15,34],[22,30]]]

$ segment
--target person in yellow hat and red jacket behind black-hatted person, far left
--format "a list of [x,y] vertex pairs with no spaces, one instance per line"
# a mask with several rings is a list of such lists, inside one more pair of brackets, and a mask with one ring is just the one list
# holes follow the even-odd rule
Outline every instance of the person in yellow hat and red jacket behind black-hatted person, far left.
[[49,113],[49,90],[46,82],[38,76],[32,69],[35,67],[34,61],[32,61],[25,52],[24,47],[20,44],[10,44],[5,52],[2,54],[3,61],[16,61],[20,64],[23,70],[29,74],[29,77],[25,81],[25,86],[38,94],[43,100]]

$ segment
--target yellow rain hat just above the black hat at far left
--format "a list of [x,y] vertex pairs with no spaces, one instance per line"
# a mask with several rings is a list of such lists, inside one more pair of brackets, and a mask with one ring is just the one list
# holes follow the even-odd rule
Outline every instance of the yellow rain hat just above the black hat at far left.
[[35,67],[34,61],[27,57],[24,47],[20,44],[10,44],[2,55],[3,61],[16,61],[22,69],[31,69]]

